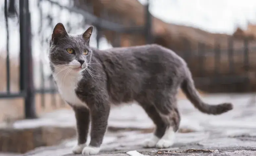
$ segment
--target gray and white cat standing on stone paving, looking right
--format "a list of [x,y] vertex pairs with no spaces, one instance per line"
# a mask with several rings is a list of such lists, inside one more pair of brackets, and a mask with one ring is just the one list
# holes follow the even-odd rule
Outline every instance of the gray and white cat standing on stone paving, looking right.
[[[110,104],[136,101],[156,129],[144,147],[167,148],[179,129],[179,87],[203,113],[222,114],[231,103],[209,105],[197,93],[183,59],[159,45],[98,50],[89,46],[93,27],[71,35],[58,23],[50,40],[49,59],[59,93],[76,115],[78,144],[74,153],[94,155],[107,129]],[[91,141],[87,133],[91,121]]]

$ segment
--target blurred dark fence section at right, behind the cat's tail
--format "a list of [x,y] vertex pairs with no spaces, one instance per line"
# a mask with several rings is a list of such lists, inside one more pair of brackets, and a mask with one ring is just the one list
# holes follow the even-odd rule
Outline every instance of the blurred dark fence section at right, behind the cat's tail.
[[[198,43],[197,49],[192,50],[190,42],[184,39],[186,50],[177,52],[190,67],[196,87],[208,93],[254,92],[255,41],[229,37],[225,49],[218,40],[215,42],[211,49]],[[234,44],[239,45],[234,47]]]

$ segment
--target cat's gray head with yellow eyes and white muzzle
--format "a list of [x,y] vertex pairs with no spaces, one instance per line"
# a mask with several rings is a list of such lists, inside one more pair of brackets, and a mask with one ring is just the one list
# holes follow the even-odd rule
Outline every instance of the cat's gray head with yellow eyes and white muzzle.
[[93,26],[78,35],[68,34],[62,23],[56,24],[50,40],[49,59],[54,69],[81,71],[90,63],[89,47]]

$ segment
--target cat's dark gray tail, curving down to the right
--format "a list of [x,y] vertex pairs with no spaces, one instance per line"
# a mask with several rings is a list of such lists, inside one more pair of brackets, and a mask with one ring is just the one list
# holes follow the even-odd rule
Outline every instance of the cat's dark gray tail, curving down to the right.
[[204,103],[199,93],[196,91],[190,72],[186,72],[186,77],[181,84],[181,89],[193,105],[203,113],[218,115],[233,109],[231,103],[222,103],[218,105]]

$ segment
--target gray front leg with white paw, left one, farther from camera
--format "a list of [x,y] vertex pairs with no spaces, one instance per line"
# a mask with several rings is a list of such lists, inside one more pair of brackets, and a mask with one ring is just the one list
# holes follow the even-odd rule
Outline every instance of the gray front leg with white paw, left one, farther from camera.
[[73,107],[77,121],[77,145],[73,148],[74,154],[81,154],[83,148],[86,146],[89,123],[90,111],[86,107]]

